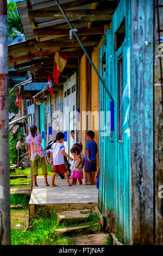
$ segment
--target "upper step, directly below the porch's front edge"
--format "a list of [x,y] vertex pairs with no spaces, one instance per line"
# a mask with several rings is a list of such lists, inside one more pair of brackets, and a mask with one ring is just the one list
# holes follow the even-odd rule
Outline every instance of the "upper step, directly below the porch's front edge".
[[[62,211],[57,212],[58,222],[62,220],[66,221],[79,221],[84,220],[85,218],[88,218],[90,215],[91,210],[85,209],[85,210],[77,210],[77,211]],[[95,212],[95,211],[93,211]]]

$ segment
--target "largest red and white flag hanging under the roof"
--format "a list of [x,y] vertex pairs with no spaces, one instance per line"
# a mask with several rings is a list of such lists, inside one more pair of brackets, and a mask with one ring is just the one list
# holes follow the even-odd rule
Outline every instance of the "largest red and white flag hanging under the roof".
[[68,58],[67,52],[55,52],[54,66],[53,66],[54,83],[58,84],[58,78],[61,72],[65,68],[67,58]]

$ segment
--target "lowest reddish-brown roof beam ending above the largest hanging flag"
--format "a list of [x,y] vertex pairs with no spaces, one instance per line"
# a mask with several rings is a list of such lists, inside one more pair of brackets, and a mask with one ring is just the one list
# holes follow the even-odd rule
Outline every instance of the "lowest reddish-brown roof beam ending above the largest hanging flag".
[[[30,57],[29,59],[31,60],[32,58],[35,58],[35,57],[49,56],[49,54],[52,54],[52,53],[57,52],[59,50],[60,50],[59,47],[55,47],[55,48],[51,48],[49,50],[31,53],[31,54],[29,54],[29,57]],[[21,57],[9,59],[9,63],[21,62],[22,60],[26,60],[26,59],[28,59],[28,56],[24,55],[24,56],[21,56]]]

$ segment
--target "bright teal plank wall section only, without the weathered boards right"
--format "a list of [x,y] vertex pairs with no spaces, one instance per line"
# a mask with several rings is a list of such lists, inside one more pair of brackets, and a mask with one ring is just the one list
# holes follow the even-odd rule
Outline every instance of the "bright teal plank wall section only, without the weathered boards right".
[[[106,228],[114,230],[123,243],[131,240],[131,184],[130,184],[130,6],[128,1],[120,1],[112,16],[112,29],[106,32],[106,46],[101,48],[102,59],[106,55],[106,86],[114,99],[114,127],[110,136],[100,136],[100,186],[99,208],[106,218]],[[120,48],[115,52],[115,33],[125,19],[126,36]],[[117,138],[117,62],[123,56],[123,133],[122,142]],[[110,99],[103,86],[100,87],[101,111],[110,110]],[[127,114],[128,113],[128,114]],[[106,119],[106,114],[105,114]],[[101,116],[101,124],[103,123]]]

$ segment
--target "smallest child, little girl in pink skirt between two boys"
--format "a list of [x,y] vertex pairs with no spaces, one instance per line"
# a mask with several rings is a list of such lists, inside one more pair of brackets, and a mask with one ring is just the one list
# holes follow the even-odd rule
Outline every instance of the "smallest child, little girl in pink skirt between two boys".
[[72,175],[71,175],[71,185],[76,185],[76,182],[79,181],[80,185],[83,185],[82,179],[83,179],[83,157],[80,155],[80,149],[78,147],[73,147],[71,149],[71,154],[75,157]]

